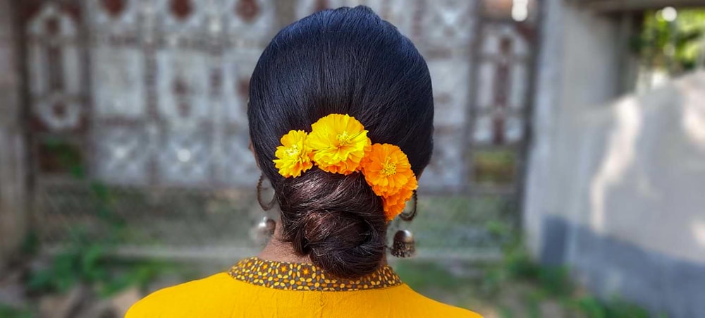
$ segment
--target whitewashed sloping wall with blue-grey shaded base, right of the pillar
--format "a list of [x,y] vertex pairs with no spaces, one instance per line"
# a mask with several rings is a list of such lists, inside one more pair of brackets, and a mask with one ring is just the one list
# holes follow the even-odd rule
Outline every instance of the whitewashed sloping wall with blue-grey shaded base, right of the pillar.
[[537,256],[599,295],[705,317],[705,72],[562,110],[550,158],[532,163],[549,165]]

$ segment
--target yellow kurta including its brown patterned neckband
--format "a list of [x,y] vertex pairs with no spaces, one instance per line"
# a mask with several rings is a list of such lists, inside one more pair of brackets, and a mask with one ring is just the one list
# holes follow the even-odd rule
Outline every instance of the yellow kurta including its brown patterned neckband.
[[346,280],[326,277],[312,264],[252,257],[226,273],[152,293],[125,317],[480,316],[412,291],[390,267]]

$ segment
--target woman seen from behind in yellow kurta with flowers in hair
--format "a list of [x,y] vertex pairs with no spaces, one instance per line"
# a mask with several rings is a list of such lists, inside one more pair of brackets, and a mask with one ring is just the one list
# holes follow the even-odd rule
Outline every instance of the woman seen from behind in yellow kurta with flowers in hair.
[[387,224],[429,163],[433,114],[426,62],[369,8],[284,28],[252,73],[247,109],[281,210],[273,238],[127,317],[479,317],[415,293],[386,266]]

